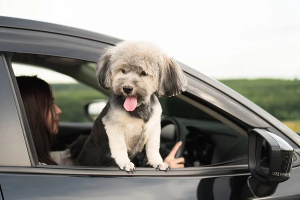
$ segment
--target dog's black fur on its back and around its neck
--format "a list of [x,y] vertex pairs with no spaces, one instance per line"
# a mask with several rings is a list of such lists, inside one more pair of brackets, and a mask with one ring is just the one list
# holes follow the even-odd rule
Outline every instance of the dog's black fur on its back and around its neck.
[[[90,135],[86,137],[78,137],[77,141],[73,142],[70,147],[71,157],[75,160],[76,164],[81,166],[116,166],[114,159],[111,157],[111,152],[108,144],[108,136],[106,134],[104,124],[102,123],[102,117],[105,116],[111,104],[115,107],[123,109],[124,98],[112,94],[110,100],[107,102],[99,116],[94,121]],[[136,107],[134,111],[128,112],[131,116],[141,118],[145,122],[149,120],[152,115],[152,106],[158,103],[154,94],[150,97],[148,104],[141,104]],[[116,116],[117,117],[117,116]],[[139,139],[142,138],[142,134],[136,138],[136,144],[139,143]],[[80,153],[78,153],[80,152]],[[134,156],[138,152],[128,152],[128,156]],[[131,158],[130,158],[131,159]]]

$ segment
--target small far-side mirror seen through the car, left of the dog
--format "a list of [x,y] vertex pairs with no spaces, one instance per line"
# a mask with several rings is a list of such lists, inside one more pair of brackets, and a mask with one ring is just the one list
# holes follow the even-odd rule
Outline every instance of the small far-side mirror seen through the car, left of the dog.
[[94,121],[106,104],[107,100],[105,99],[97,99],[86,102],[83,107],[85,116],[88,120]]

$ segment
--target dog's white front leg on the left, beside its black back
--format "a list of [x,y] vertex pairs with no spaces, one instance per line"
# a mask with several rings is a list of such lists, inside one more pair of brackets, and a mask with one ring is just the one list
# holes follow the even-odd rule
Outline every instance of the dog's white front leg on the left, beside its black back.
[[135,166],[128,157],[127,147],[125,143],[124,132],[116,125],[106,127],[106,133],[109,141],[111,157],[120,169],[125,171],[135,171]]

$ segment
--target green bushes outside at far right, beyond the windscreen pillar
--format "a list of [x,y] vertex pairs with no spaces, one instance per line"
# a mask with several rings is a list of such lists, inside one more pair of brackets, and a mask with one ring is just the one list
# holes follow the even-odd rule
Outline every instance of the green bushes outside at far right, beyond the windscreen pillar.
[[279,120],[300,119],[300,80],[228,79],[220,81]]

